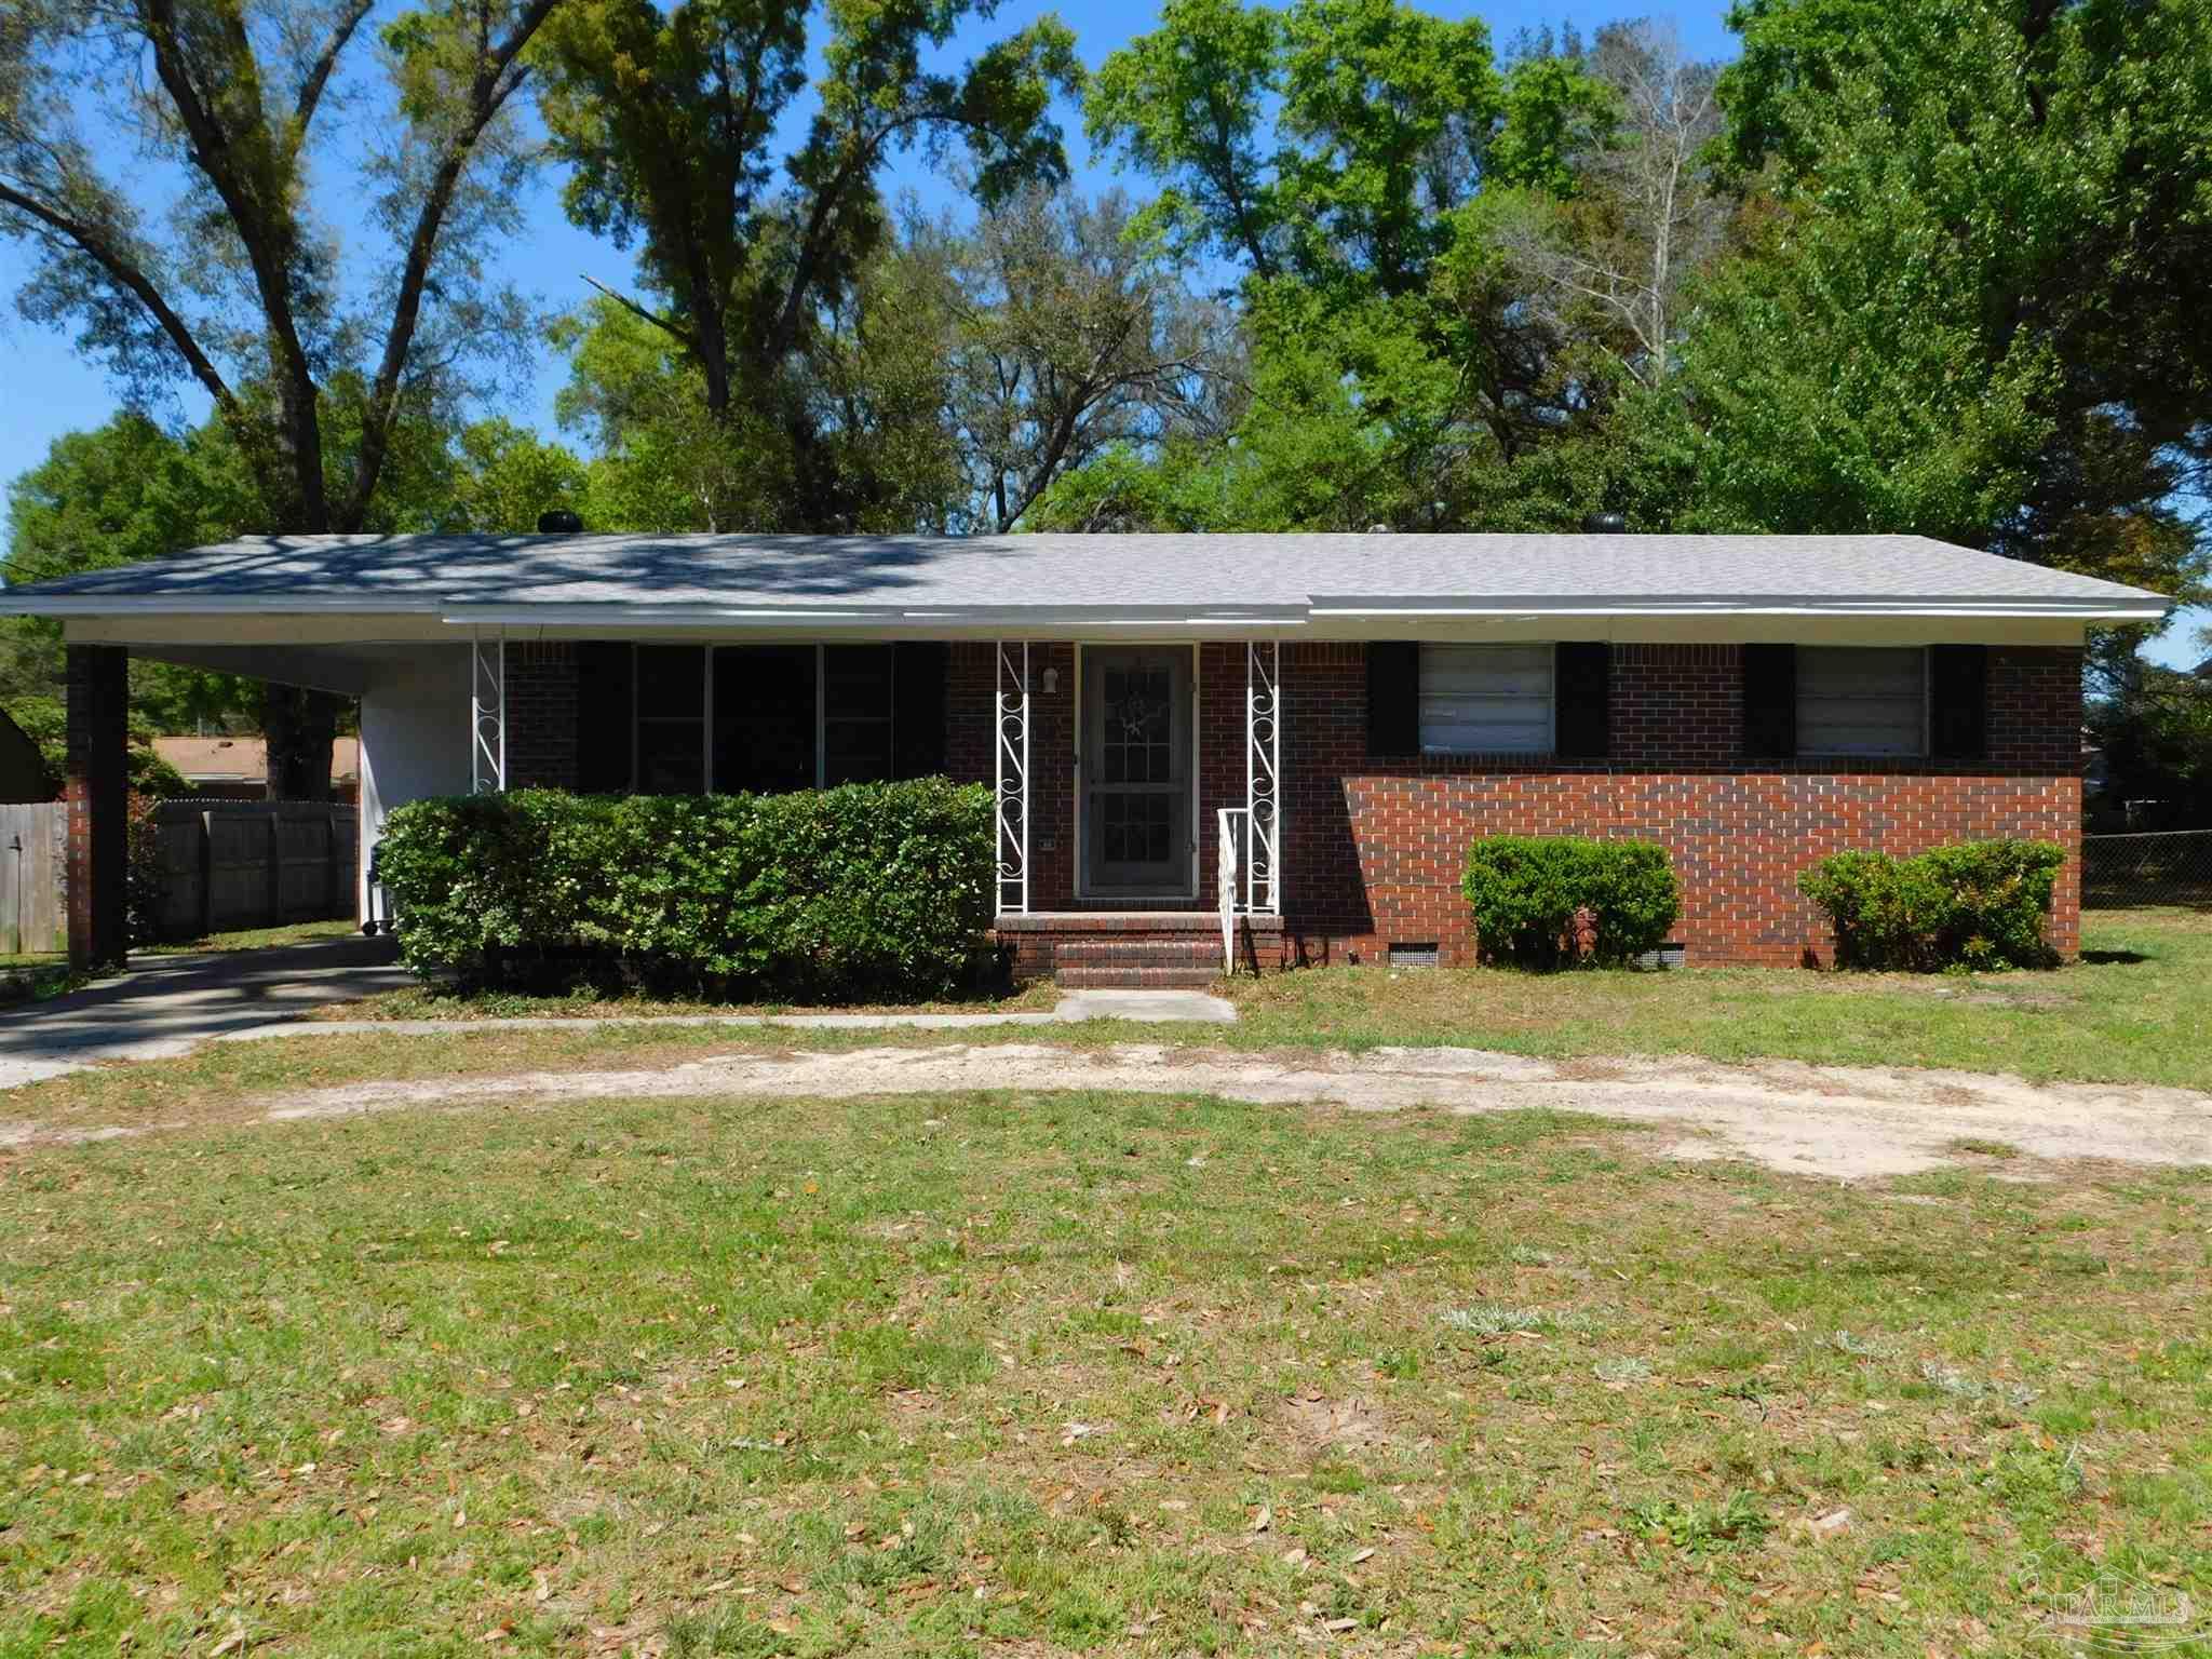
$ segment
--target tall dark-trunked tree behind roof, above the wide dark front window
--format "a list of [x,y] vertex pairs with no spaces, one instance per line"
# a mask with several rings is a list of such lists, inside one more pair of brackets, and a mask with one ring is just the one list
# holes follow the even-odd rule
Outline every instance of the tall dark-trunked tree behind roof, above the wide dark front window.
[[792,480],[761,529],[854,526],[885,495],[849,469],[858,456],[838,425],[849,398],[818,398],[823,363],[807,361],[834,356],[838,319],[852,336],[858,290],[887,248],[885,161],[964,144],[984,201],[1066,175],[1051,100],[1079,66],[1057,20],[958,73],[922,62],[991,11],[989,0],[832,0],[818,106],[781,168],[776,135],[805,88],[807,4],[571,0],[546,31],[544,117],[575,168],[568,212],[637,246],[644,294],[619,303],[697,376],[710,427],[739,442],[757,422],[781,434]]

